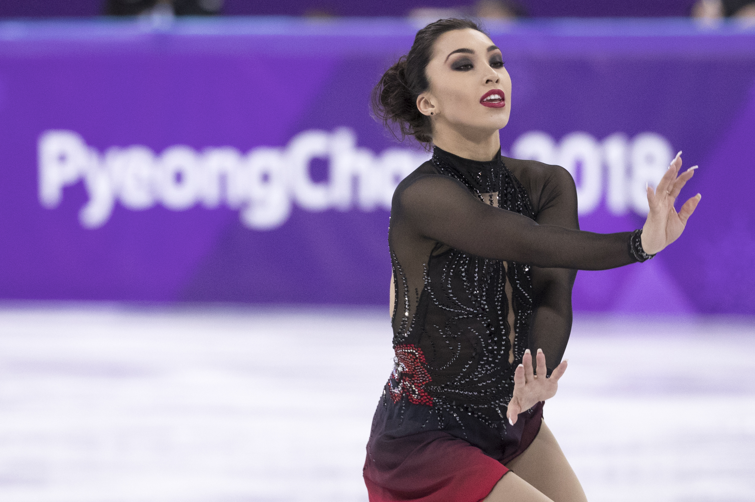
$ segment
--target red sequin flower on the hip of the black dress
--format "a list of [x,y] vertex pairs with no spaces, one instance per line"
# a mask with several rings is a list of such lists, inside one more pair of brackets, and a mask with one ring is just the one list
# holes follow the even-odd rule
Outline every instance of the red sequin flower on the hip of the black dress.
[[425,384],[432,381],[425,366],[424,354],[420,347],[412,344],[396,345],[396,363],[390,374],[390,398],[398,403],[406,394],[409,403],[433,406],[433,398],[424,390]]

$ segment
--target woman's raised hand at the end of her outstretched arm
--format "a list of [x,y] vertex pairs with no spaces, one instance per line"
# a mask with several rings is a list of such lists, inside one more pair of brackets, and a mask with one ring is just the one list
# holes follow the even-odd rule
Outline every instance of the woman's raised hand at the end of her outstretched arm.
[[661,178],[661,182],[658,183],[655,191],[651,186],[647,188],[650,212],[645,225],[643,225],[641,238],[643,250],[649,255],[655,255],[679,238],[687,224],[687,219],[692,216],[695,207],[698,207],[698,202],[700,202],[701,195],[697,194],[683,204],[679,213],[676,213],[673,208],[673,203],[682,191],[682,187],[692,178],[695,169],[697,169],[697,166],[692,166],[677,177],[676,175],[682,167],[681,153],[679,152],[673,158],[670,167]]

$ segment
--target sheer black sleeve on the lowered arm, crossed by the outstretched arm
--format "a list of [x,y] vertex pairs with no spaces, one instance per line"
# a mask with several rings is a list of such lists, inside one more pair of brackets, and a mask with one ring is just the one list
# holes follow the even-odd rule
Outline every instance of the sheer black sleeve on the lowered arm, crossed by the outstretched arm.
[[[535,221],[579,230],[577,189],[569,171],[544,166],[547,174],[538,183],[539,207]],[[548,375],[559,365],[572,332],[572,286],[577,277],[573,268],[532,268],[535,312],[529,335],[532,354],[543,349]]]

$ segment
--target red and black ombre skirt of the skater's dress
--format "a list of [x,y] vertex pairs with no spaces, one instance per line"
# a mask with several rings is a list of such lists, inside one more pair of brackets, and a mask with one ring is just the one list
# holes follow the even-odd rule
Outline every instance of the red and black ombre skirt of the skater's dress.
[[[520,417],[522,420],[524,417]],[[495,460],[442,430],[381,441],[381,461],[365,461],[370,502],[479,502],[508,472],[504,464],[525,451],[540,432],[542,407],[529,418],[513,455]]]

